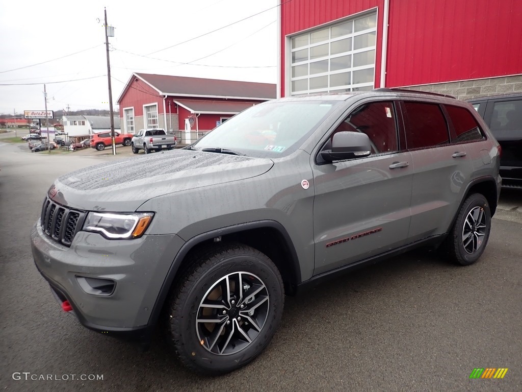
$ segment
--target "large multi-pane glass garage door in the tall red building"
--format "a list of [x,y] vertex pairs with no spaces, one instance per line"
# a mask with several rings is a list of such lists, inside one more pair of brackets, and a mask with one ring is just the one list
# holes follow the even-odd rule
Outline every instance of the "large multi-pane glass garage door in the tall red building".
[[371,90],[377,14],[290,38],[290,95]]

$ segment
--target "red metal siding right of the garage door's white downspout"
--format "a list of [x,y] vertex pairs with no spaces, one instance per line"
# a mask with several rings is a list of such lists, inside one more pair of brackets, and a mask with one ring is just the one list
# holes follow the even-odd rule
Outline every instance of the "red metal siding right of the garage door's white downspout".
[[522,73],[520,0],[390,0],[386,87]]

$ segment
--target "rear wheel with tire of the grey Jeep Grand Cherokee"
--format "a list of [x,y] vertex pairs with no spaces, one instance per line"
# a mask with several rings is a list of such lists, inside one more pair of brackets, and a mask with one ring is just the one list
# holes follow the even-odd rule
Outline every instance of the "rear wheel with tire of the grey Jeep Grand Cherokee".
[[476,262],[486,245],[491,231],[491,211],[488,200],[480,194],[471,194],[460,207],[452,230],[445,240],[450,260],[461,266]]

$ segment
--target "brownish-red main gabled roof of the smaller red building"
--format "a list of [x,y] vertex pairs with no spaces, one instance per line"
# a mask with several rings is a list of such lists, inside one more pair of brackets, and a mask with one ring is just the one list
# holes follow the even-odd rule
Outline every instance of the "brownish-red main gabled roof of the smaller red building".
[[276,85],[270,83],[134,73],[117,102],[120,102],[135,77],[156,89],[160,95],[259,100],[276,98]]

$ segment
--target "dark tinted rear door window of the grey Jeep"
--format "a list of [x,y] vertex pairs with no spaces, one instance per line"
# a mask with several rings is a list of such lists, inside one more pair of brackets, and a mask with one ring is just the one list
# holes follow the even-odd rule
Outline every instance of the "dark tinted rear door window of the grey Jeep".
[[435,103],[404,102],[406,145],[408,149],[449,143],[448,125]]

